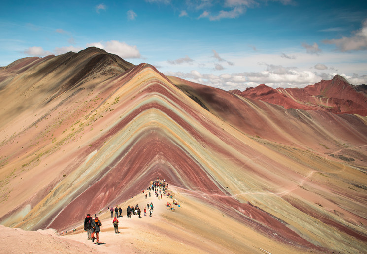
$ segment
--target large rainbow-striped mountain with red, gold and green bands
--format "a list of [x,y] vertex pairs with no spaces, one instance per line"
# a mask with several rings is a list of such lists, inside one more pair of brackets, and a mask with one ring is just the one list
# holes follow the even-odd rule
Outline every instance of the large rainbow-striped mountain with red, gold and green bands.
[[184,201],[161,216],[175,245],[250,251],[256,232],[288,252],[366,250],[363,116],[285,109],[98,48],[20,59],[0,80],[2,225],[69,231],[159,178]]

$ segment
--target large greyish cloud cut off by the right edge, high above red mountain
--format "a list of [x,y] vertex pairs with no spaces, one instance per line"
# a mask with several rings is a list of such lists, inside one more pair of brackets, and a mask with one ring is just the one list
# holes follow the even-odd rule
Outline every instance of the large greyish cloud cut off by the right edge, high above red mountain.
[[362,28],[354,32],[354,36],[341,39],[324,40],[325,44],[334,44],[340,51],[367,49],[367,19],[362,22]]

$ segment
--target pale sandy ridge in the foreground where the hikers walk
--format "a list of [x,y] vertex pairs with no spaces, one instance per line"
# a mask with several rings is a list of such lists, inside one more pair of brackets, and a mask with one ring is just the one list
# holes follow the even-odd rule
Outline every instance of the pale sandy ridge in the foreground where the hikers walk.
[[[315,253],[297,249],[269,239],[253,229],[203,204],[191,195],[170,188],[181,207],[166,208],[172,199],[139,194],[119,204],[123,217],[119,220],[119,234],[114,233],[110,212],[100,212],[102,222],[100,245],[87,240],[83,225],[67,232],[54,229],[24,231],[0,225],[3,235],[0,253]],[[144,207],[152,202],[152,217],[144,216]],[[128,205],[138,204],[142,218],[127,218]],[[114,205],[115,206],[115,205]],[[86,214],[89,211],[86,211]],[[80,218],[83,223],[84,218]],[[316,252],[317,253],[317,252]]]

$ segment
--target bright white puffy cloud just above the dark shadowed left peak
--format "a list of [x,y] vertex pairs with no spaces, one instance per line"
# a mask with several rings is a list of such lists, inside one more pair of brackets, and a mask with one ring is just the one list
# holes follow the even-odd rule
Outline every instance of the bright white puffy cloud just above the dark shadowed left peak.
[[88,47],[98,47],[104,49],[108,53],[118,55],[124,59],[126,58],[140,58],[140,52],[136,46],[130,46],[125,42],[111,40],[107,42],[95,42],[87,44]]

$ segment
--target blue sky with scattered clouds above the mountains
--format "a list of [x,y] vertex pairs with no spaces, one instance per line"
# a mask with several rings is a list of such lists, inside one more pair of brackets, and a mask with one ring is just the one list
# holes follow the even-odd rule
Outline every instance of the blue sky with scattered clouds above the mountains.
[[367,1],[0,1],[0,66],[90,46],[224,90],[367,84]]

